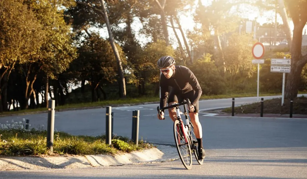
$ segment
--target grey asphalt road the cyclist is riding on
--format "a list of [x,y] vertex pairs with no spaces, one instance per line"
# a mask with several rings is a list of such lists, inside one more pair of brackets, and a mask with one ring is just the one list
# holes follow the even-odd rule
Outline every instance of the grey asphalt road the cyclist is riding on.
[[[255,100],[236,99],[236,105]],[[200,109],[226,106],[231,106],[231,99],[200,102]],[[132,111],[140,110],[140,139],[173,145],[173,123],[169,118],[158,120],[156,107],[157,104],[113,107],[114,132],[130,137]],[[47,125],[47,114],[4,117],[0,123],[22,118],[30,119],[32,126]],[[91,169],[0,171],[0,178],[307,178],[307,119],[201,114],[200,123],[207,156],[204,165],[193,161],[191,170],[176,160]],[[56,112],[55,128],[74,135],[103,134],[105,108]]]

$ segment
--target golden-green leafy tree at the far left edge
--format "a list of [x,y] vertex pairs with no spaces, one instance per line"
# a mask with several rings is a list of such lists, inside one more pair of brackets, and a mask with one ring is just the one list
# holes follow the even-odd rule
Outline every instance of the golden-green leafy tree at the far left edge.
[[[6,85],[17,62],[27,63],[38,57],[38,51],[46,41],[43,25],[22,1],[0,1],[0,100],[7,110]],[[3,93],[3,91],[5,91]],[[0,111],[3,110],[0,107]]]

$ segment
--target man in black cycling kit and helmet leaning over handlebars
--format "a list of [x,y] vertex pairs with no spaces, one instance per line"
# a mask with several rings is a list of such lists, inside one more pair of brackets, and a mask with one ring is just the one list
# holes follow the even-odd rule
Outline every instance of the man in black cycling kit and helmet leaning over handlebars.
[[[160,76],[160,108],[166,107],[167,100],[169,106],[173,103],[180,103],[186,98],[191,101],[188,112],[198,142],[198,155],[200,159],[203,159],[205,157],[205,151],[202,142],[202,127],[198,119],[198,103],[202,90],[198,80],[189,68],[175,64],[175,59],[172,56],[162,56],[157,62],[158,68],[160,68],[161,73],[163,73],[163,75]],[[170,91],[169,86],[172,87]],[[169,117],[173,121],[176,120],[175,108],[169,109]],[[158,119],[164,119],[163,110],[161,117],[158,115]]]

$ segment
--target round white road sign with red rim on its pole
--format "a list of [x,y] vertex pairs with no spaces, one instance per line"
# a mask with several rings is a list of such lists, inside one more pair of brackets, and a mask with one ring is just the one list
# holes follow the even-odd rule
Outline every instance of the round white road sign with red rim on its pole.
[[258,64],[258,74],[257,74],[257,101],[259,101],[259,64],[263,64],[264,60],[261,59],[264,56],[265,48],[260,42],[256,42],[252,48],[252,54],[256,60],[252,60],[253,64]]

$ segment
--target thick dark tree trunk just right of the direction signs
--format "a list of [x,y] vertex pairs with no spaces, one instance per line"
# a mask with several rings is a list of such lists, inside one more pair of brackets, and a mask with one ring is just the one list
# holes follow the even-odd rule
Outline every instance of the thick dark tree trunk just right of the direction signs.
[[291,71],[287,76],[285,98],[295,98],[298,93],[298,86],[301,80],[301,72],[307,62],[307,55],[301,53],[302,33],[305,23],[294,25],[293,43],[291,48]]

